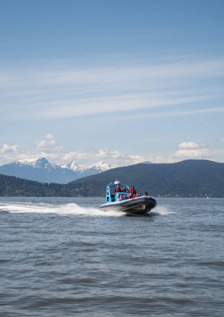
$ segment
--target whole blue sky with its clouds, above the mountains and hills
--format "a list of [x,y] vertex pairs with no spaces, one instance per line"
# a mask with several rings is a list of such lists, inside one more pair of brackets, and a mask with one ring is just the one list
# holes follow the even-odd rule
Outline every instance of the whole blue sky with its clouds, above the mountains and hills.
[[0,1],[0,164],[224,162],[224,2]]

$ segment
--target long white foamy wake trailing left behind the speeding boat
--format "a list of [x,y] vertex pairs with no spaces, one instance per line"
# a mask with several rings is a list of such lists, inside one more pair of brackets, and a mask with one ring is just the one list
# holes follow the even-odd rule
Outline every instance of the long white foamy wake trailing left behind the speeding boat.
[[59,215],[88,215],[88,216],[123,216],[125,213],[118,211],[101,211],[96,208],[83,208],[70,203],[53,206],[50,204],[5,204],[0,205],[0,210],[10,213],[55,213]]

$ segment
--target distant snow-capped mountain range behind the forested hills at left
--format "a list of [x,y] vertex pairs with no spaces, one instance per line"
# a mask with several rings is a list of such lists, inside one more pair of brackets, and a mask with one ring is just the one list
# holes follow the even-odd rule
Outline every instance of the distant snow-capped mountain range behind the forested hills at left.
[[68,164],[55,164],[45,158],[23,159],[0,166],[0,174],[17,176],[46,183],[65,184],[73,180],[101,173],[111,166],[98,162],[86,167],[71,161]]

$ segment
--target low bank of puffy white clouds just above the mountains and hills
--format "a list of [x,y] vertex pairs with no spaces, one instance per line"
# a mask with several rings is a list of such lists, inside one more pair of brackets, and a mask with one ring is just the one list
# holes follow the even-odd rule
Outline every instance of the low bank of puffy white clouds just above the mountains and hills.
[[167,156],[141,156],[136,154],[124,154],[118,150],[105,148],[95,149],[89,152],[74,151],[57,144],[53,139],[45,139],[34,144],[33,148],[22,149],[18,145],[3,144],[0,148],[0,163],[9,163],[17,159],[38,159],[45,157],[56,163],[65,163],[71,160],[77,161],[81,166],[86,166],[97,161],[104,160],[113,167],[131,165],[148,160],[154,163],[172,163],[183,159],[209,159],[210,150],[204,144],[195,142],[182,142],[179,150]]

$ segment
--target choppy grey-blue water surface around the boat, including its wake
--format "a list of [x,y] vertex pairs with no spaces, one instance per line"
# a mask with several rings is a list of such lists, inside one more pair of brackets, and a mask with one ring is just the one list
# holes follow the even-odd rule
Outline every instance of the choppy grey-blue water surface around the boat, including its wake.
[[224,200],[0,198],[0,316],[224,316]]

